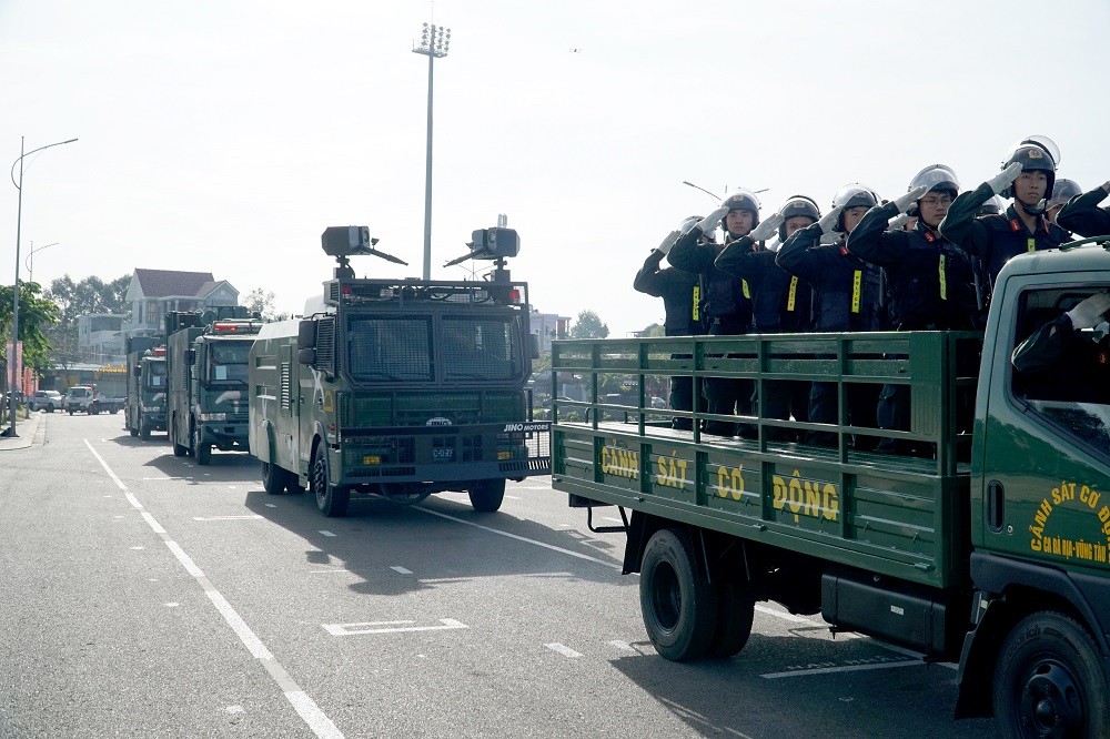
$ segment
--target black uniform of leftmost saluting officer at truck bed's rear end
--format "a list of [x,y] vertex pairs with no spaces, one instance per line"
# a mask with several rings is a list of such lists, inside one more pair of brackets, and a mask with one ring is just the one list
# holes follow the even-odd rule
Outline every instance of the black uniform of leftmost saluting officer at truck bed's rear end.
[[[675,267],[659,269],[663,252],[652,250],[644,266],[636,273],[633,287],[640,293],[663,298],[664,333],[667,336],[698,336],[705,333],[702,321],[702,287],[697,275]],[[689,354],[673,354],[672,358],[688,360]],[[670,378],[670,407],[675,411],[694,409],[694,378]],[[689,418],[674,418],[674,428],[690,429]]]

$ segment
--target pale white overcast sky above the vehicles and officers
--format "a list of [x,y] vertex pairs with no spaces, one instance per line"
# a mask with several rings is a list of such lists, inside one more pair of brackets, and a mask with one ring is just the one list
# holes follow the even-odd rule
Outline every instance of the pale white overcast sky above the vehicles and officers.
[[[331,276],[323,229],[364,224],[410,266],[356,257],[360,275],[420,276],[427,58],[412,48],[432,12],[0,0],[0,168],[21,135],[80,138],[27,160],[21,261],[59,242],[37,282],[211,271],[300,313]],[[1104,0],[440,0],[434,20],[452,41],[435,62],[432,276],[467,275],[441,265],[506,213],[533,305],[596,311],[610,335],[662,321],[633,276],[715,206],[683,180],[767,188],[765,215],[795,193],[825,209],[848,182],[901,194],[937,162],[973,188],[1032,133],[1060,145],[1060,176],[1110,179]]]

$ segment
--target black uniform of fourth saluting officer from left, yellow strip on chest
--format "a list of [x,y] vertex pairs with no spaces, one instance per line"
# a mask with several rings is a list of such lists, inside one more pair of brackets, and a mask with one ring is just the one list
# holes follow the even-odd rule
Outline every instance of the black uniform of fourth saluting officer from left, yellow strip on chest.
[[[821,245],[821,227],[814,223],[799,229],[786,240],[776,263],[814,287],[814,331],[878,331],[879,269],[848,252],[841,237],[835,244]],[[813,384],[809,392],[809,419],[836,424],[836,383]],[[855,426],[875,426],[876,393],[869,385],[849,387],[848,415]],[[811,433],[809,441],[833,444],[827,432]],[[869,443],[859,442],[861,446]]]

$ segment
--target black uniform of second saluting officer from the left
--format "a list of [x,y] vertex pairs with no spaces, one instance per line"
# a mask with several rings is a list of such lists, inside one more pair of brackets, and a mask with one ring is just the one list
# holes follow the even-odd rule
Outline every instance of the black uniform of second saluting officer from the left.
[[[736,336],[748,333],[751,326],[751,293],[743,280],[714,266],[724,246],[698,243],[702,230],[690,229],[679,236],[667,255],[667,261],[683,272],[699,275],[705,300],[704,313],[707,333],[713,336]],[[709,413],[733,415],[750,413],[751,381],[707,377],[704,393]],[[736,424],[710,421],[705,431],[718,436],[734,436]]]

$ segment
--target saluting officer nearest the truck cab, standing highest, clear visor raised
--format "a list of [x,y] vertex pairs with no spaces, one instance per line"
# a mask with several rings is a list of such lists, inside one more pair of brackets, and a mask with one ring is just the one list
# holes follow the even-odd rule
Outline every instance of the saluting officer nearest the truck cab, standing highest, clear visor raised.
[[[1043,136],[1018,144],[1002,172],[957,198],[940,223],[940,233],[982,262],[992,288],[1006,262],[1022,252],[1056,249],[1070,240],[1067,231],[1045,217],[1052,196],[1059,150]],[[1012,198],[1005,214],[976,217],[992,195]]]

